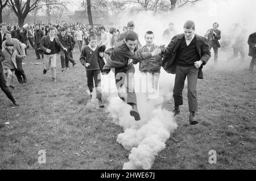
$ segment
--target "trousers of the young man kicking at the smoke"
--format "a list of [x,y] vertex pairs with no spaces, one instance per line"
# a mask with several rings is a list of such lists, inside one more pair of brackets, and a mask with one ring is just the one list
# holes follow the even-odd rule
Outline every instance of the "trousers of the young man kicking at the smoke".
[[[122,68],[115,68],[115,86],[117,90],[121,90],[122,86],[125,86],[126,92],[118,91],[119,98],[126,101],[127,104],[132,103],[137,105],[137,97],[133,85],[134,72],[133,64],[126,65]],[[126,98],[123,93],[126,93]]]

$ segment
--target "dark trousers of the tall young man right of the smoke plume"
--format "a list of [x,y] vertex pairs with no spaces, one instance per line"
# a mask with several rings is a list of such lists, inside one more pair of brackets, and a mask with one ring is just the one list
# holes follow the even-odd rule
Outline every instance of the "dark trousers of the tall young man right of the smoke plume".
[[195,66],[177,66],[174,84],[174,104],[183,105],[182,91],[184,89],[185,78],[188,79],[188,107],[189,111],[198,111],[196,84],[198,71]]

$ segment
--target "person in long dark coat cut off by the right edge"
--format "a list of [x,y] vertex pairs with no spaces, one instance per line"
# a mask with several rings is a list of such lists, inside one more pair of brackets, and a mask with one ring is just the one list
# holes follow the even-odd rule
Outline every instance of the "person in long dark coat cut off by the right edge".
[[249,36],[247,43],[249,45],[248,55],[252,57],[249,70],[253,71],[254,66],[256,66],[256,32]]

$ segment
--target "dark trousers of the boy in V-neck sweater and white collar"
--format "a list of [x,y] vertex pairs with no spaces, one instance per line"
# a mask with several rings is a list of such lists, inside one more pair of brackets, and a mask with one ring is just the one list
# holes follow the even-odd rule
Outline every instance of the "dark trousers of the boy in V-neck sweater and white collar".
[[[92,92],[95,86],[96,99],[101,99],[101,89],[98,85],[101,83],[101,71],[100,70],[86,70],[87,86],[89,91]],[[94,84],[93,84],[94,80]]]

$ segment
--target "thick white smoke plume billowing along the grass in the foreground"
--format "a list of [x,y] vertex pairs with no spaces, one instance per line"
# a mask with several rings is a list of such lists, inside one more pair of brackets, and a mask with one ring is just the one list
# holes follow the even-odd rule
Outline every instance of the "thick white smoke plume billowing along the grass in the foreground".
[[[135,79],[138,80],[138,77],[139,74],[135,74]],[[108,82],[106,77],[104,79],[104,82]],[[150,169],[155,156],[165,148],[166,140],[177,128],[174,114],[161,106],[166,98],[171,97],[170,89],[173,86],[174,75],[160,74],[159,82],[162,89],[157,99],[148,99],[146,94],[137,93],[138,110],[141,115],[139,121],[130,116],[131,106],[116,94],[109,97],[109,116],[115,124],[125,129],[125,132],[118,134],[117,142],[125,149],[131,150],[129,162],[123,165],[123,169]]]

